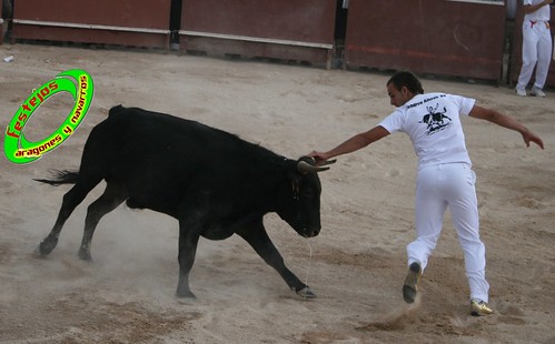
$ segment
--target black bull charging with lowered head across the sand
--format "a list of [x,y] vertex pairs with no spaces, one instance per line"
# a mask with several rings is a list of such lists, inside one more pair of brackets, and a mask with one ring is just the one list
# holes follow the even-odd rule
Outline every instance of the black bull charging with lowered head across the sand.
[[236,135],[198,122],[137,108],[115,107],[92,129],[79,172],[59,172],[38,180],[75,184],[50,234],[37,249],[49,254],[66,220],[102,180],[103,194],[85,220],[79,257],[90,260],[90,244],[100,219],[123,201],[132,209],[150,209],[179,221],[178,296],[195,295],[189,272],[200,236],[224,240],[237,233],[300,295],[314,292],[287,266],[262,223],[276,212],[305,237],[320,231],[320,181],[310,158],[290,160]]

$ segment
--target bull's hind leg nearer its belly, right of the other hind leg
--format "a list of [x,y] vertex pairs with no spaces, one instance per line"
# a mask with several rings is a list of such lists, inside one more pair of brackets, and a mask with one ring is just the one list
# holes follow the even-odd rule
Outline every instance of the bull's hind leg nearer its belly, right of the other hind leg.
[[98,222],[103,215],[118,208],[127,198],[128,195],[120,184],[108,183],[105,193],[89,205],[85,219],[83,237],[78,253],[80,259],[90,261],[90,244]]

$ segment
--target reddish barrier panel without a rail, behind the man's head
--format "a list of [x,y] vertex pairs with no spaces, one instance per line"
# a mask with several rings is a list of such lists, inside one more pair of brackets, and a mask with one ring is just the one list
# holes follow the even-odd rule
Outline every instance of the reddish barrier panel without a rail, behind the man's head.
[[503,0],[350,0],[346,63],[499,82],[505,17]]

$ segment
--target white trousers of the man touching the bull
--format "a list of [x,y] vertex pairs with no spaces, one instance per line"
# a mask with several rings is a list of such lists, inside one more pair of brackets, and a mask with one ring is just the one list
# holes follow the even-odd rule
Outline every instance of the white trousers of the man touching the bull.
[[423,271],[436,247],[447,206],[464,252],[470,299],[488,302],[485,279],[486,250],[479,239],[476,174],[466,163],[422,168],[416,185],[416,240],[407,245],[408,265],[419,262]]

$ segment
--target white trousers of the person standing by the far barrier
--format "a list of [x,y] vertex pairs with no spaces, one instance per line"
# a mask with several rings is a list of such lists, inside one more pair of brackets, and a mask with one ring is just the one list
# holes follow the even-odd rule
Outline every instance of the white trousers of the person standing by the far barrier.
[[523,22],[523,67],[516,84],[518,90],[526,89],[534,72],[534,67],[536,67],[534,87],[544,88],[549,72],[552,51],[549,26],[544,21],[531,22],[525,20]]

